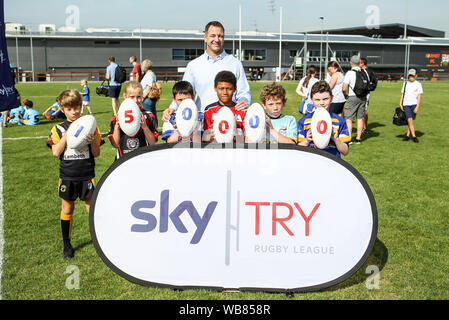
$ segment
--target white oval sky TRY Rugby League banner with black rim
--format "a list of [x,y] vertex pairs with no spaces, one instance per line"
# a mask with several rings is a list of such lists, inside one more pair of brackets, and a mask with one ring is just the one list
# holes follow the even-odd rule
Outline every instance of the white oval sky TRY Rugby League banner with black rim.
[[363,265],[377,208],[363,177],[321,150],[166,144],[108,169],[90,230],[102,260],[138,284],[304,292]]

